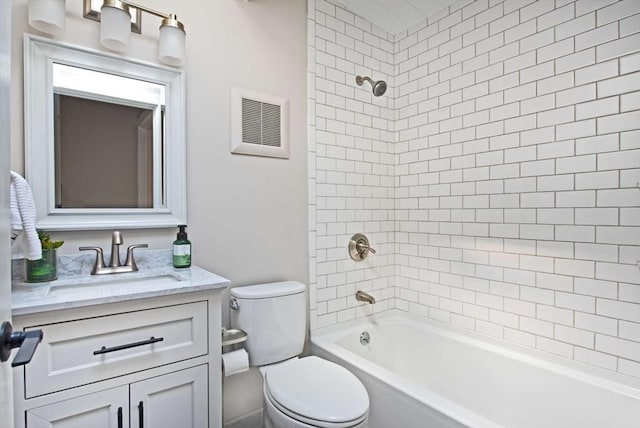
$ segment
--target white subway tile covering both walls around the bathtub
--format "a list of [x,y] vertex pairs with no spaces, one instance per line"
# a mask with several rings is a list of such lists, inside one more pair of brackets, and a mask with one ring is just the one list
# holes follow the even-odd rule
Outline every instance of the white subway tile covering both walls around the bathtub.
[[311,328],[398,308],[640,377],[640,2],[308,25]]

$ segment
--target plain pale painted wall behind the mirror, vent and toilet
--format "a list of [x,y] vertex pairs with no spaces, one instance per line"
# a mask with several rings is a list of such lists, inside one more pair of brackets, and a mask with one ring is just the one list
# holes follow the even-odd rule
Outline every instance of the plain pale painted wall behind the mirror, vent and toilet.
[[[22,35],[38,32],[27,24],[26,0],[11,3],[11,165],[24,172]],[[82,1],[66,4],[66,29],[56,38],[101,49],[99,24],[82,18]],[[186,27],[188,233],[194,264],[229,278],[234,286],[284,279],[306,283],[306,4],[290,0],[140,4],[176,13]],[[132,34],[127,56],[157,62],[159,25],[159,20],[144,15],[143,34]],[[232,86],[289,98],[289,160],[229,153]],[[124,231],[124,239],[167,248],[175,232]],[[79,245],[108,248],[110,242],[108,231],[53,236],[66,241],[63,254],[77,252]],[[227,319],[225,305],[223,322]],[[252,388],[261,388],[260,378],[253,379]],[[259,400],[240,393],[225,401],[243,403],[228,407],[225,420],[261,407]]]

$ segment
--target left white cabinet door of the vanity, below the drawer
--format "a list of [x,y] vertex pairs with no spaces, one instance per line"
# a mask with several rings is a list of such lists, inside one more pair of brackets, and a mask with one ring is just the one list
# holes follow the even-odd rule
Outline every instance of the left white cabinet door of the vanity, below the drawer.
[[27,428],[125,428],[129,388],[120,386],[27,411]]

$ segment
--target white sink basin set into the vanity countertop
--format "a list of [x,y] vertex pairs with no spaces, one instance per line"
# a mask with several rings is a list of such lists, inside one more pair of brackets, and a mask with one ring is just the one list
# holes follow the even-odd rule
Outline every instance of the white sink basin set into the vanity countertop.
[[82,281],[78,279],[59,280],[51,284],[49,294],[65,295],[91,292],[103,295],[117,293],[120,290],[155,290],[183,281],[182,278],[172,273],[135,275],[127,275],[126,277],[96,276],[88,281],[86,278]]

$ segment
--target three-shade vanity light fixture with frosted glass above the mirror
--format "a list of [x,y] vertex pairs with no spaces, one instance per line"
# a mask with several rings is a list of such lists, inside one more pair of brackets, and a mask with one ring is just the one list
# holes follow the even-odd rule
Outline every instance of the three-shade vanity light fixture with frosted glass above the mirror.
[[[162,18],[158,59],[172,66],[184,64],[186,33],[175,14],[158,12],[125,0],[104,0],[97,11],[95,3],[84,0],[84,16],[100,21],[100,43],[105,48],[116,52],[126,51],[131,38],[130,31],[140,32],[141,12],[146,12]],[[99,1],[97,3],[100,4]],[[65,0],[29,0],[29,24],[35,29],[58,34],[64,29],[64,21]]]

